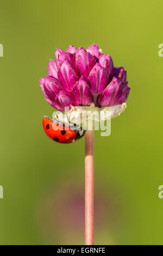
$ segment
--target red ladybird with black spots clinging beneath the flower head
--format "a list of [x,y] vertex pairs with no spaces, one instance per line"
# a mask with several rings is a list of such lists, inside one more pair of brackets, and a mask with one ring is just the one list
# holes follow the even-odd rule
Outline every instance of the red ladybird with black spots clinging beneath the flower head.
[[77,141],[85,135],[86,129],[79,127],[79,125],[68,123],[61,123],[59,119],[51,119],[43,117],[43,129],[46,135],[59,143],[71,143]]

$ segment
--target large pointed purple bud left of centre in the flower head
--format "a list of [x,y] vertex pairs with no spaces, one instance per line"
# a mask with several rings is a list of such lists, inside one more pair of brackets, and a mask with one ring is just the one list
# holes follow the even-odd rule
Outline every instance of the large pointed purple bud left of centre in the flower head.
[[71,92],[74,84],[76,84],[78,81],[78,75],[68,60],[65,60],[65,62],[61,65],[58,77],[62,86],[64,86],[65,90],[68,92]]

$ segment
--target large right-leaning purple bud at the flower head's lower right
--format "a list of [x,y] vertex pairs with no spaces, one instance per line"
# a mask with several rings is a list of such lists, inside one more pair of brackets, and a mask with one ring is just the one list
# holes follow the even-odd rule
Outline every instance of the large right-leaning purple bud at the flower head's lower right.
[[118,82],[117,78],[112,78],[112,81],[106,86],[103,93],[99,96],[99,103],[101,106],[114,106],[122,95],[122,84]]

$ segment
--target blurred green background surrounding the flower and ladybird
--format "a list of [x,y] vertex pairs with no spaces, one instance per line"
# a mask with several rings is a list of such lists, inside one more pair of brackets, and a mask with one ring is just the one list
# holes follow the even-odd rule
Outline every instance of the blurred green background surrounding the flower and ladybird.
[[95,42],[127,70],[127,109],[95,133],[95,244],[163,244],[162,1],[0,1],[1,245],[84,244],[84,139],[51,141],[39,78]]

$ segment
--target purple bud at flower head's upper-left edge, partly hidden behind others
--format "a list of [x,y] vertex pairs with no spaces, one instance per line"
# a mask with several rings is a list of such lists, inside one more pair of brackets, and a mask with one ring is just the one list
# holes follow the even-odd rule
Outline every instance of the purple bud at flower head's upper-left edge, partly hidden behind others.
[[64,63],[65,60],[68,60],[73,67],[75,67],[75,57],[70,52],[64,52],[61,49],[58,49],[55,52],[55,60],[58,68]]

